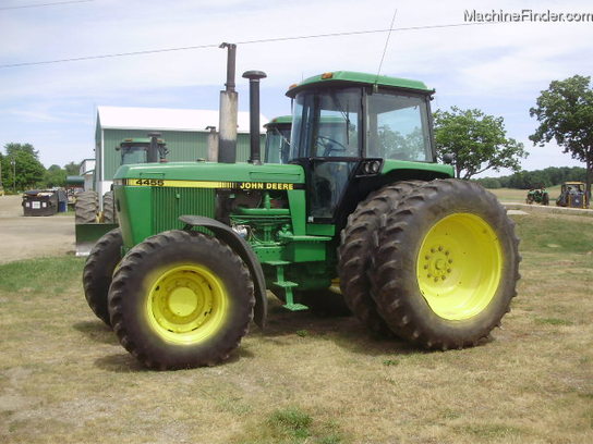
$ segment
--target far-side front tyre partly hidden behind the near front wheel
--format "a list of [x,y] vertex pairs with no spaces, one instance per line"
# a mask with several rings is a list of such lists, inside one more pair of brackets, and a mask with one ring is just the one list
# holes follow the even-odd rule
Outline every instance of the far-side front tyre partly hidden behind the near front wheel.
[[111,325],[107,295],[113,272],[121,260],[122,245],[120,229],[111,230],[97,240],[84,266],[84,296],[93,312],[107,325]]

